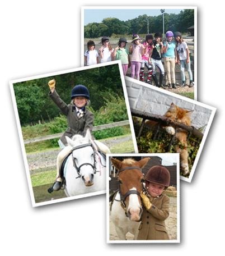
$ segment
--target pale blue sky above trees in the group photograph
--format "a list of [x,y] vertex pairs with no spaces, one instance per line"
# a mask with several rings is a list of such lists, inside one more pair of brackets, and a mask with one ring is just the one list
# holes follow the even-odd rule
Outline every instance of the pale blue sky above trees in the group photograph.
[[[88,8],[88,7],[87,7]],[[165,9],[165,13],[179,14],[184,9]],[[158,16],[162,15],[160,8],[158,9],[85,9],[84,10],[84,25],[88,23],[102,22],[105,18],[117,18],[119,20],[127,21],[137,18],[140,15]]]

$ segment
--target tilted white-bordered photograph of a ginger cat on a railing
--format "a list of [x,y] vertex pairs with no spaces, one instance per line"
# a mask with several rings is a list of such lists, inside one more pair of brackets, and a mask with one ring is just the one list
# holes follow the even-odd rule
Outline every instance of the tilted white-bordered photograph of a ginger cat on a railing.
[[191,182],[216,108],[125,77],[139,153],[179,153]]

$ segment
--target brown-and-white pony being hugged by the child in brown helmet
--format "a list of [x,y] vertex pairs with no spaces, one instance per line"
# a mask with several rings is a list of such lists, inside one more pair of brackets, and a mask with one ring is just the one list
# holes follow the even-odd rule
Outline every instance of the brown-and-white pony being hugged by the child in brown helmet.
[[126,233],[130,232],[137,240],[140,217],[142,215],[142,202],[140,192],[143,190],[143,168],[150,158],[140,161],[124,159],[122,162],[111,158],[111,162],[119,170],[118,187],[111,209],[111,220],[120,240],[126,240]]

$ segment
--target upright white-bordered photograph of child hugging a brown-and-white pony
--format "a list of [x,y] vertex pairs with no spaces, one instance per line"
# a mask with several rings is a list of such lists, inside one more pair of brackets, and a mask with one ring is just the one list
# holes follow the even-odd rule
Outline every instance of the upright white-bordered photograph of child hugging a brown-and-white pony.
[[179,154],[107,154],[106,243],[180,243]]

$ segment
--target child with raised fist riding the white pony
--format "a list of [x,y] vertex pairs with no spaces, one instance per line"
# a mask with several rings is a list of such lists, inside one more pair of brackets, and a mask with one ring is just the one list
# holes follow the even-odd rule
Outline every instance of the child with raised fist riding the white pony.
[[[68,129],[58,141],[60,148],[63,148],[63,150],[59,153],[57,158],[57,180],[55,181],[53,190],[59,190],[62,186],[62,177],[59,176],[59,164],[63,158],[67,156],[69,150],[71,150],[70,147],[66,147],[68,143],[65,136],[68,136],[69,138],[72,138],[72,136],[76,134],[85,136],[87,129],[89,129],[92,134],[94,115],[86,108],[90,100],[90,95],[86,86],[81,84],[74,86],[71,92],[72,104],[68,105],[60,99],[56,92],[55,79],[49,81],[48,85],[50,88],[49,97],[57,105],[60,112],[67,116],[68,123]],[[92,139],[95,139],[93,135]]]

